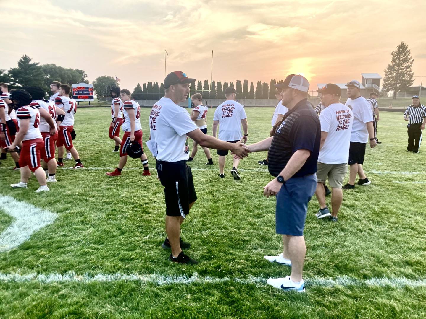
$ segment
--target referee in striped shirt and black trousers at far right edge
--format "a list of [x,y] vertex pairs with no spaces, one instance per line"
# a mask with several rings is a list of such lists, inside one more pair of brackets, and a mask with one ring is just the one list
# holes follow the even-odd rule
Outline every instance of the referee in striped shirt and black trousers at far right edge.
[[407,151],[418,154],[422,142],[422,130],[426,124],[426,106],[420,104],[420,98],[417,95],[414,95],[412,100],[413,104],[409,105],[404,112],[404,120],[408,121]]

